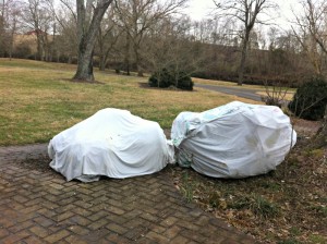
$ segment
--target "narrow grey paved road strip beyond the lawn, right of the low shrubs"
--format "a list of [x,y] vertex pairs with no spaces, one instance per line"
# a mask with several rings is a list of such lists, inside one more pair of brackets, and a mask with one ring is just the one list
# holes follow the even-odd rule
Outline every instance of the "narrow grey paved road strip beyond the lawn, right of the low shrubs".
[[238,97],[247,98],[255,101],[261,101],[261,95],[257,95],[257,89],[242,89],[237,87],[225,87],[225,86],[215,86],[215,85],[205,85],[205,84],[195,84],[195,87],[201,87],[205,89],[216,90],[223,94],[235,95]]

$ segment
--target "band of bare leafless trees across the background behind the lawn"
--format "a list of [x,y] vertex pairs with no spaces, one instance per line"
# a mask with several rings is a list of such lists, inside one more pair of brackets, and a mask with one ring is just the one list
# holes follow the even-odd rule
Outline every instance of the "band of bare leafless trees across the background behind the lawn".
[[[214,0],[202,21],[189,0],[2,0],[0,57],[93,68],[193,75],[242,83],[298,83],[326,76],[327,2],[302,0],[290,27],[269,21],[274,0]],[[265,26],[265,27],[263,27]]]

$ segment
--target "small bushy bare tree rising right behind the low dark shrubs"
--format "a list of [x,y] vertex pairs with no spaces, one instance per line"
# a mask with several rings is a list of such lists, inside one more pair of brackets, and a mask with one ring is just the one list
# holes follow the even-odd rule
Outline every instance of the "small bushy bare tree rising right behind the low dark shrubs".
[[190,35],[191,30],[192,22],[187,17],[166,17],[152,28],[145,56],[152,73],[157,75],[158,86],[162,72],[169,73],[178,87],[179,81],[202,69],[204,46]]

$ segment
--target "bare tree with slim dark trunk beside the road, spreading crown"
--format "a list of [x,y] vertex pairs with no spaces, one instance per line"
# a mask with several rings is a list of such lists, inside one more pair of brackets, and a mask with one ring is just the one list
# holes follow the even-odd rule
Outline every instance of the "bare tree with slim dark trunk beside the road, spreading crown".
[[238,85],[242,85],[251,32],[256,23],[264,23],[264,20],[258,16],[276,9],[277,4],[271,0],[214,0],[214,2],[219,11],[219,17],[242,23],[242,51],[238,81]]

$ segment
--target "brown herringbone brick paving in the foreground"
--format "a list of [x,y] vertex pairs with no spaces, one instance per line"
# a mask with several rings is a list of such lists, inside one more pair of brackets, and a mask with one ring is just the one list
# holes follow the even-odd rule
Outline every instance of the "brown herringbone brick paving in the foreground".
[[170,169],[65,182],[21,163],[40,155],[46,145],[0,147],[0,243],[254,243],[185,203]]

